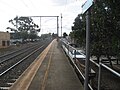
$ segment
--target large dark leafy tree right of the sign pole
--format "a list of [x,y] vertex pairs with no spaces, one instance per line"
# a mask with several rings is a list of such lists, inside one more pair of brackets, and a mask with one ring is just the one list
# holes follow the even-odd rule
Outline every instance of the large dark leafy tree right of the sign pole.
[[98,57],[98,62],[101,55],[107,56],[111,65],[111,56],[119,53],[118,3],[119,0],[97,1],[91,11],[91,53]]

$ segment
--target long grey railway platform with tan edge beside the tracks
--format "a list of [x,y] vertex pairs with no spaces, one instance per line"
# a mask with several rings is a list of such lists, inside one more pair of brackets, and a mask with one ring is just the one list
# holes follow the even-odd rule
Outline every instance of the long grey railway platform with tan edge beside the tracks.
[[83,86],[55,39],[10,90],[83,90]]

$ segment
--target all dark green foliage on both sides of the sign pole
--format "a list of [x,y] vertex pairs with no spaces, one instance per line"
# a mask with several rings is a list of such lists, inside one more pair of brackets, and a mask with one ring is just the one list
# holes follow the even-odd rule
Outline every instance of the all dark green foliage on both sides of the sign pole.
[[[120,55],[120,0],[97,0],[91,8],[91,55]],[[85,47],[85,15],[78,15],[71,37]]]

